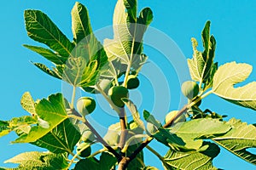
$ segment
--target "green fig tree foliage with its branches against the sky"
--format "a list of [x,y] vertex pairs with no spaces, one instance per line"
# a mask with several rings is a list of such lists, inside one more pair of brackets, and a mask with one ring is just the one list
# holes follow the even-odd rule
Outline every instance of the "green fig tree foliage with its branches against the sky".
[[[197,50],[195,38],[191,39],[193,58],[188,59],[188,65],[194,85],[191,89],[183,86],[188,104],[175,111],[175,116],[166,124],[161,124],[148,111],[143,111],[144,120],[141,118],[136,104],[129,99],[128,91],[137,88],[137,75],[148,59],[143,54],[143,35],[152,20],[150,8],[143,8],[137,16],[137,0],[117,0],[113,12],[113,39],[106,38],[102,45],[92,31],[88,10],[81,3],[75,3],[72,9],[72,42],[46,14],[26,10],[28,37],[48,48],[24,47],[42,55],[55,67],[49,69],[41,63],[33,64],[49,76],[68,82],[73,86],[73,96],[65,99],[60,93],[50,94],[47,99],[34,101],[26,92],[20,104],[30,115],[0,121],[0,137],[14,131],[18,138],[12,143],[30,143],[49,151],[25,152],[5,162],[18,163],[19,167],[15,169],[73,167],[107,170],[119,167],[155,170],[157,168],[144,164],[146,156],[143,149],[146,147],[158,156],[166,169],[217,169],[212,160],[218,156],[219,146],[222,146],[256,165],[256,156],[247,150],[256,148],[255,126],[236,118],[224,121],[224,116],[214,111],[201,111],[200,108],[202,99],[216,94],[235,105],[256,110],[256,83],[234,87],[249,76],[252,66],[236,62],[218,66],[214,62],[216,40],[210,35],[210,21],[201,33],[202,52]],[[130,77],[137,81],[132,88],[128,83]],[[125,95],[108,95],[109,89],[119,86],[125,88]],[[119,122],[109,125],[103,138],[90,125],[87,114],[80,116],[76,111],[77,87],[91,94],[102,94],[119,115]],[[190,95],[190,91],[194,94]],[[120,105],[114,105],[116,100]],[[88,109],[89,104],[85,104],[79,104],[83,108],[80,113]],[[95,105],[90,112],[94,108]],[[131,112],[133,121],[127,122],[125,108]],[[180,116],[187,116],[187,122],[175,122]],[[160,156],[148,146],[153,139],[165,144],[169,150],[166,156]],[[102,144],[101,150],[80,157],[83,150],[94,147],[96,143]]]

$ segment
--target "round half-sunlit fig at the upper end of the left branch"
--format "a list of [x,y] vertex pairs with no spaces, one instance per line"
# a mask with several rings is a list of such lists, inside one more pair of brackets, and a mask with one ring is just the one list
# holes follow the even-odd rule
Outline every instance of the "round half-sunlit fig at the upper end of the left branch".
[[96,102],[90,97],[82,97],[77,102],[77,109],[82,116],[89,115],[96,108]]

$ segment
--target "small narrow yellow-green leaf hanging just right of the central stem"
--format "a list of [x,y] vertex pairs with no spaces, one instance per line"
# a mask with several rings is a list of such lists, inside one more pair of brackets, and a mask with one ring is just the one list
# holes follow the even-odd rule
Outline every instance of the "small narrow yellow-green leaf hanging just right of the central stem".
[[125,105],[128,107],[129,111],[131,111],[131,115],[133,117],[134,122],[137,124],[138,127],[145,130],[145,126],[143,121],[140,118],[140,114],[137,111],[137,106],[131,101],[131,99],[122,99]]

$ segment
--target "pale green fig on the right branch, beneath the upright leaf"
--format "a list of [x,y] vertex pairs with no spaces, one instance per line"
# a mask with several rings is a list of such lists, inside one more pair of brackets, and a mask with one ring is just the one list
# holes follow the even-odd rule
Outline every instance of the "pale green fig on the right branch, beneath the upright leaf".
[[193,99],[199,93],[199,86],[196,82],[187,81],[183,82],[181,90],[184,96],[188,99]]

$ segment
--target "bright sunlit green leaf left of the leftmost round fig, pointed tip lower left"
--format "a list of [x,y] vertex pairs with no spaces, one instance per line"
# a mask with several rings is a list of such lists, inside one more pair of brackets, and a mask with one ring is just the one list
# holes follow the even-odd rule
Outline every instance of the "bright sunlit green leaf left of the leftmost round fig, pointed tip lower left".
[[48,99],[41,99],[36,105],[37,115],[49,123],[49,128],[33,126],[29,133],[23,133],[13,143],[29,143],[42,138],[61,122],[67,119],[66,108],[62,94],[52,94]]

